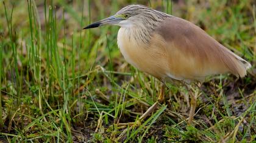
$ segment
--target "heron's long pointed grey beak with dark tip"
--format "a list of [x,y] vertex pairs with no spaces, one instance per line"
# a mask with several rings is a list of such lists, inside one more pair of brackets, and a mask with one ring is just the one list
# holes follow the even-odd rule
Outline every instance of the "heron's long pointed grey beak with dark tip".
[[98,22],[94,22],[93,24],[88,25],[87,27],[83,28],[83,29],[88,29],[88,28],[96,28],[99,27],[101,25],[115,25],[118,24],[120,21],[123,21],[123,18],[119,18],[118,16],[110,16],[108,18],[102,19],[101,21]]

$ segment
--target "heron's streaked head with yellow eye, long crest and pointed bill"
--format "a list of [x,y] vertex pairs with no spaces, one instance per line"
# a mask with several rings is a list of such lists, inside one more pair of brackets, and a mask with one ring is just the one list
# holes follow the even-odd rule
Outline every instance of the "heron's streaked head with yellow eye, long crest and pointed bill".
[[120,27],[133,27],[151,25],[154,22],[162,21],[166,16],[165,13],[152,10],[144,5],[128,5],[119,10],[115,15],[94,22],[84,29],[95,28],[101,25],[119,25]]

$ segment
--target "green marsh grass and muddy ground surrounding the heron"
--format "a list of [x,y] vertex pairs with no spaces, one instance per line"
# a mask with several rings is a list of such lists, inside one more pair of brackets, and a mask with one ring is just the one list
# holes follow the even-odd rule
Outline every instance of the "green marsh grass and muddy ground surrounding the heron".
[[188,93],[168,83],[163,105],[138,127],[160,82],[127,64],[118,27],[82,30],[137,1],[0,1],[0,142],[253,142],[256,4],[140,1],[182,17],[252,64],[246,78],[207,79],[188,126]]

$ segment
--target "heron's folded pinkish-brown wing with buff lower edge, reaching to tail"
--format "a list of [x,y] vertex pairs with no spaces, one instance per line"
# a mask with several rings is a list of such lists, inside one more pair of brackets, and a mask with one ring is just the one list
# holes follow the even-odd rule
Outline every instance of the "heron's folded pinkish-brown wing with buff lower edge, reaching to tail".
[[169,72],[177,78],[201,80],[227,72],[244,77],[251,67],[249,62],[184,19],[168,18],[156,32],[166,41]]

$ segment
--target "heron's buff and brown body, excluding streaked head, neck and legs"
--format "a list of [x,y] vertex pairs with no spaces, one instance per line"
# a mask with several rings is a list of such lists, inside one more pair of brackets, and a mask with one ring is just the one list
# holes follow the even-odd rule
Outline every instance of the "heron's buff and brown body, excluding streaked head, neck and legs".
[[158,24],[147,43],[138,33],[143,29],[119,29],[121,53],[127,62],[160,80],[204,81],[205,77],[220,73],[244,77],[251,67],[204,30],[175,16]]

